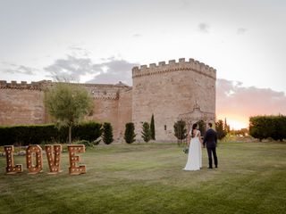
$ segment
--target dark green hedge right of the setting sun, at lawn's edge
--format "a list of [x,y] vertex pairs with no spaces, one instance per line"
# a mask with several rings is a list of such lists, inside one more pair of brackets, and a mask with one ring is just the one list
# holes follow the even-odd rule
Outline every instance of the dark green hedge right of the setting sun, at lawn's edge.
[[249,135],[260,141],[266,138],[273,140],[286,139],[286,116],[255,116],[249,118]]

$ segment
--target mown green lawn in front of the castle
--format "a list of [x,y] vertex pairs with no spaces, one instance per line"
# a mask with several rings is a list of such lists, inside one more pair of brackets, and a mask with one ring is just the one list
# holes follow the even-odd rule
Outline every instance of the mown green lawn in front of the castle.
[[80,154],[88,173],[44,170],[4,174],[0,157],[0,213],[285,213],[286,144],[222,143],[219,169],[184,171],[176,144],[99,145]]

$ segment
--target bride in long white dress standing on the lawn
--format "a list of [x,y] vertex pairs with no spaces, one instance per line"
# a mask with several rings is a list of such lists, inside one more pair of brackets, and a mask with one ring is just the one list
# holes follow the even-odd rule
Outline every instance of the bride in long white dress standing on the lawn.
[[189,131],[189,136],[191,136],[190,142],[188,142],[189,155],[184,170],[199,170],[202,168],[202,143],[197,123]]

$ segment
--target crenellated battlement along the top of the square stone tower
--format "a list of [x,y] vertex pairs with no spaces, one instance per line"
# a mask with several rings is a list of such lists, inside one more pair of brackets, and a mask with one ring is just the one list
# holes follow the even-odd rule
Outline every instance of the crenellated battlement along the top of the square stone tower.
[[157,65],[156,63],[151,63],[149,66],[136,66],[132,69],[132,78],[139,78],[143,76],[157,75],[180,70],[192,70],[199,74],[205,75],[206,77],[216,79],[216,70],[214,70],[214,68],[206,65],[203,62],[195,61],[194,59],[189,59],[189,61],[186,62],[185,58],[179,59],[179,62],[170,60],[169,63],[159,62]]

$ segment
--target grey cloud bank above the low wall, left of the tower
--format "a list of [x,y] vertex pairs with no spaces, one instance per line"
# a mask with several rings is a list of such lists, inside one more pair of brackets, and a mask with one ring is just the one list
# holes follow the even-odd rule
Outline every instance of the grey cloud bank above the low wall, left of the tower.
[[122,81],[131,85],[131,70],[136,63],[110,57],[101,59],[104,62],[94,63],[90,58],[68,55],[66,59],[58,59],[44,68],[59,81],[115,84]]

